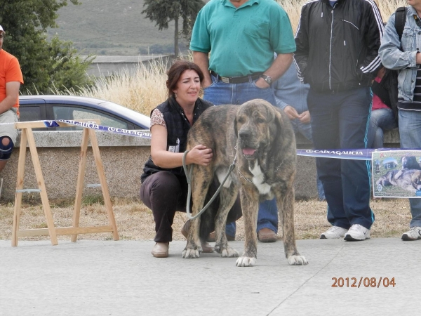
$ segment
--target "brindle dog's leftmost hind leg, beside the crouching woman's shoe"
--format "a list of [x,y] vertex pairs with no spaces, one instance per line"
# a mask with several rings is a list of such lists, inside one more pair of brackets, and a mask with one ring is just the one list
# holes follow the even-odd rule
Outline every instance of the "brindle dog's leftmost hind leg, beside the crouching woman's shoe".
[[[210,183],[212,183],[212,166],[191,165],[193,168],[192,176],[192,215],[195,216],[203,208],[206,199],[206,193]],[[189,235],[187,236],[187,245],[182,251],[182,258],[199,258],[202,251],[199,237],[200,216],[192,220]]]

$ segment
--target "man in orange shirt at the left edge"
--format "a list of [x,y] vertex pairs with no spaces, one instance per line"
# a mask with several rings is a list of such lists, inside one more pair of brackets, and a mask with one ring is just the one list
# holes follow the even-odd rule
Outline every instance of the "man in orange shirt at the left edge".
[[23,84],[18,59],[2,49],[5,36],[0,25],[0,172],[11,157],[18,136],[14,123],[19,117],[19,88]]

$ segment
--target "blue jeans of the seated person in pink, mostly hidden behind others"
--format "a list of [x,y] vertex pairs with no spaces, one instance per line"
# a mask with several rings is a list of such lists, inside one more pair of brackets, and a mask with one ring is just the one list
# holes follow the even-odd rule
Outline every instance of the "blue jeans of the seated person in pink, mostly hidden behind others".
[[389,108],[371,111],[370,124],[368,125],[368,148],[383,147],[383,131],[398,127],[393,111]]

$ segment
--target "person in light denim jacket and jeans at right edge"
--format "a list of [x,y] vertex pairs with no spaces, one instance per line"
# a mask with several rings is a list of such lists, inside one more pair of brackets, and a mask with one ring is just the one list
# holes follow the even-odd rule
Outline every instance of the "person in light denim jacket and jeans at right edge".
[[[398,109],[401,148],[421,148],[421,0],[408,0],[401,41],[394,27],[395,13],[389,18],[379,48],[382,64],[399,70]],[[421,199],[409,199],[410,230],[403,240],[421,239]]]

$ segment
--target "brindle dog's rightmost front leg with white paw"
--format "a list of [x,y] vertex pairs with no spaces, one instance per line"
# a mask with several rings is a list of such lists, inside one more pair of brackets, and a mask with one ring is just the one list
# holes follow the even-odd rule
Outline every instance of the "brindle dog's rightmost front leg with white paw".
[[276,205],[278,206],[279,216],[282,218],[283,248],[290,265],[307,265],[307,259],[298,253],[295,245],[294,199],[293,189],[287,190],[285,196],[282,196],[281,192],[276,194]]

